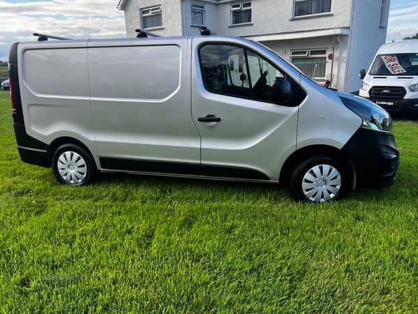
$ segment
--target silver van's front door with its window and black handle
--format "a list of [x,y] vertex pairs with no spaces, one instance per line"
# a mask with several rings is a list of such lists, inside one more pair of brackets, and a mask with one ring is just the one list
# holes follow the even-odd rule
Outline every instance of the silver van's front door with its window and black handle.
[[245,47],[193,40],[192,120],[201,136],[201,174],[279,180],[296,148],[297,105],[274,105],[277,66]]

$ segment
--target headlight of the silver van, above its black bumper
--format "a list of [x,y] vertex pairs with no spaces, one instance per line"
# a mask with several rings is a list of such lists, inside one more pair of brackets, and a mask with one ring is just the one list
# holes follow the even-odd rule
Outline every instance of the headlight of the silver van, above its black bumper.
[[362,128],[392,133],[392,118],[382,107],[361,97],[345,95],[339,97],[348,109],[363,119]]

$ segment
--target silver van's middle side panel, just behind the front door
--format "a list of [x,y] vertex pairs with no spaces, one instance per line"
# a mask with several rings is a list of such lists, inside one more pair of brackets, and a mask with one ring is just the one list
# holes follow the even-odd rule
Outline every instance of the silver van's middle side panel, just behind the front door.
[[103,169],[187,172],[186,40],[89,42],[91,114]]

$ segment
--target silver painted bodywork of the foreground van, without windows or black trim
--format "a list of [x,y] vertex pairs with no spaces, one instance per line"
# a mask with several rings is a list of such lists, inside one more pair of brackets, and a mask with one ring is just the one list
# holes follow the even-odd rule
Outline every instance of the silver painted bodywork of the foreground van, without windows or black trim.
[[[210,42],[257,52],[300,82],[307,98],[285,107],[206,91],[198,50]],[[340,149],[362,124],[334,91],[242,38],[20,43],[18,64],[26,133],[46,144],[79,140],[99,170],[105,156],[246,167],[277,182],[294,151],[315,144]],[[208,114],[222,121],[197,121]]]

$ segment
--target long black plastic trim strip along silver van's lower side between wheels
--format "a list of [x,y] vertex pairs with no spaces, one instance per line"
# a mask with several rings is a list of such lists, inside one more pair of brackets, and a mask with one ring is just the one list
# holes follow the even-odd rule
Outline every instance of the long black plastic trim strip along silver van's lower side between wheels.
[[195,176],[222,177],[234,179],[270,180],[268,176],[257,170],[242,167],[225,167],[215,165],[199,165],[195,163],[176,163],[155,160],[137,160],[126,158],[100,157],[104,170],[121,170],[132,172],[155,172],[162,174],[189,174]]

